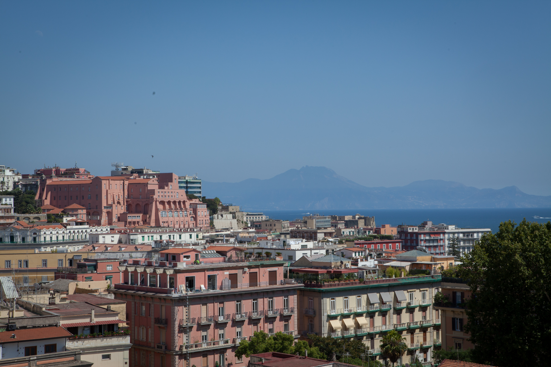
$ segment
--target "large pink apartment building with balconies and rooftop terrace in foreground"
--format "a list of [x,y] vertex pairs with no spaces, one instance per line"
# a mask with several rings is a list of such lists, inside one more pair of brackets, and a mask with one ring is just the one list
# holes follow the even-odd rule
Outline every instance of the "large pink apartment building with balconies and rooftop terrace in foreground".
[[[248,359],[236,360],[234,352],[253,332],[299,337],[296,304],[302,284],[284,280],[284,261],[191,265],[196,250],[163,251],[160,259],[167,255],[183,261],[118,268],[123,283],[115,284],[114,293],[127,303],[131,366],[245,367]],[[134,285],[142,280],[149,286]]]

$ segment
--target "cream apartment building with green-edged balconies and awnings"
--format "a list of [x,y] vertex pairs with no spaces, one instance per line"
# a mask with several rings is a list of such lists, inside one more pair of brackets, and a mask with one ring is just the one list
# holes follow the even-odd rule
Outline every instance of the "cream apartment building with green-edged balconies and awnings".
[[440,311],[433,308],[440,281],[438,275],[305,284],[298,299],[301,337],[355,338],[383,361],[381,338],[396,330],[408,347],[398,364],[411,363],[416,354],[429,364],[441,346]]

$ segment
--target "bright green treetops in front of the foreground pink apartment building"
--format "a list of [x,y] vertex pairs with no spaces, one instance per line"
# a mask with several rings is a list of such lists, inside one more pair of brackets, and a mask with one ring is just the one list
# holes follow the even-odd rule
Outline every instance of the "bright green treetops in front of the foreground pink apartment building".
[[299,353],[299,355],[304,355],[305,350],[308,350],[308,357],[321,357],[319,350],[310,347],[306,341],[293,343],[293,336],[282,332],[277,332],[276,335],[268,336],[268,334],[263,331],[255,331],[250,341],[242,340],[239,343],[239,347],[235,350],[235,357],[241,358],[244,355],[245,357],[249,357],[251,354],[267,352]]

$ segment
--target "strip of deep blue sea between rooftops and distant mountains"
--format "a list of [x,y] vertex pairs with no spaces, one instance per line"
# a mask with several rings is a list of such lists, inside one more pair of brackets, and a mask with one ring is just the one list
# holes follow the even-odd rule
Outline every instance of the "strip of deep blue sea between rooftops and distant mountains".
[[[373,210],[266,210],[265,215],[273,219],[293,220],[303,215],[354,215],[375,216],[375,224],[421,224],[423,221],[433,223],[455,224],[460,228],[490,228],[493,233],[499,231],[499,223],[512,220],[520,223],[527,221],[547,223],[551,221],[551,208],[513,208],[513,209],[373,209]],[[535,219],[533,216],[545,217]]]

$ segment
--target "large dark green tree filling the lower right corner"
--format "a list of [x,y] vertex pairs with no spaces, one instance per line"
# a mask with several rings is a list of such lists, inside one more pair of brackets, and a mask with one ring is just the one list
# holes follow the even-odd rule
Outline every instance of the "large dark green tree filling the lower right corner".
[[502,222],[463,258],[460,275],[474,297],[465,330],[473,358],[495,366],[536,366],[549,360],[551,222]]

